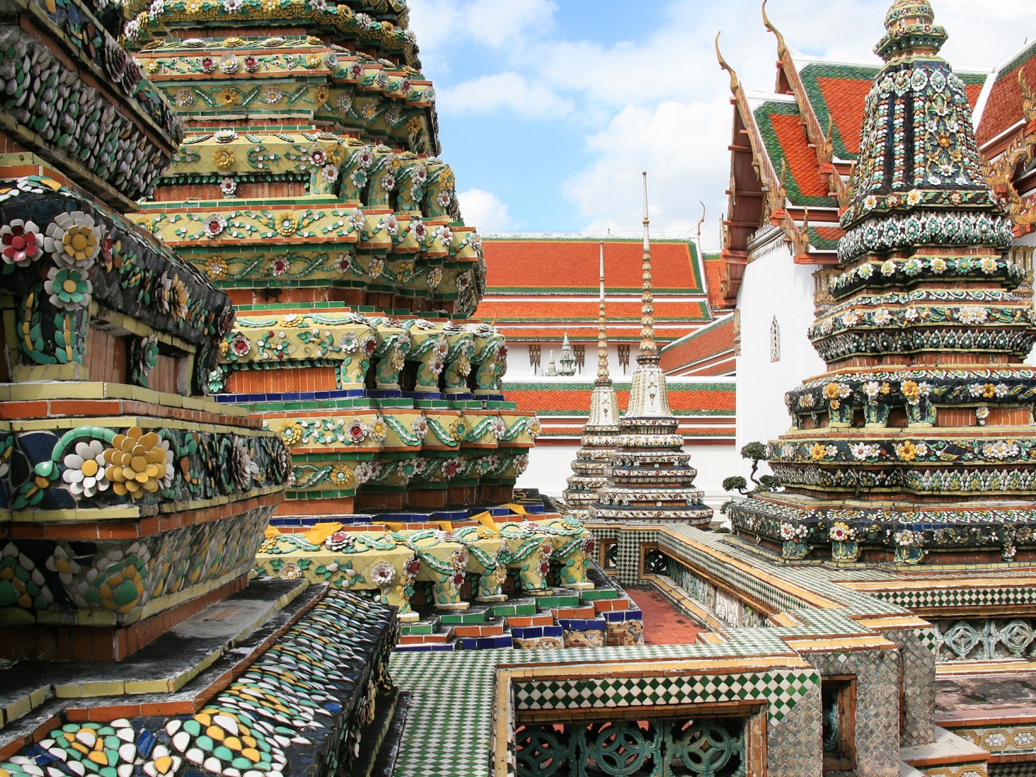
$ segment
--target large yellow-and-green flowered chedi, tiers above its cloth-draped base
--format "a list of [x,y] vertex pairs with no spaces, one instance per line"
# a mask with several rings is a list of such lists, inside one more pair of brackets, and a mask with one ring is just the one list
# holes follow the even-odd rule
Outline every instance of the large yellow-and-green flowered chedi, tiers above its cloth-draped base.
[[289,445],[281,514],[508,501],[539,432],[466,323],[479,235],[398,0],[134,0],[126,37],[186,136],[137,221],[224,289],[209,377]]

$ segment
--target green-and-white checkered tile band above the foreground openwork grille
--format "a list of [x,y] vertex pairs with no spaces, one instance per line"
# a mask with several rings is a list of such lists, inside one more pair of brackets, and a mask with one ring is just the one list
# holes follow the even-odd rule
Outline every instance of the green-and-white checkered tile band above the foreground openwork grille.
[[819,682],[819,674],[808,670],[580,678],[516,684],[515,706],[518,710],[586,710],[766,699],[771,720],[781,720],[799,698]]

